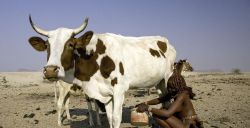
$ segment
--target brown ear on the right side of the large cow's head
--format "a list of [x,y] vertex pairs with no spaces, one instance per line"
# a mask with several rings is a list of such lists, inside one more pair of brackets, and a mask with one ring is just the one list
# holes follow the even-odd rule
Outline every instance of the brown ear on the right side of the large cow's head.
[[77,39],[77,43],[76,43],[75,48],[77,48],[77,49],[84,48],[86,45],[88,45],[93,34],[94,33],[92,31],[88,31],[88,32],[84,33],[81,37],[79,37]]

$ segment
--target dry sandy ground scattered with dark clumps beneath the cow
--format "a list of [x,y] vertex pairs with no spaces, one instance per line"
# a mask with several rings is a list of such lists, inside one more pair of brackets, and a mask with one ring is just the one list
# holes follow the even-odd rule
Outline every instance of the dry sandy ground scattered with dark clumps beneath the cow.
[[[197,94],[193,104],[206,128],[247,128],[250,126],[250,73],[184,74],[187,84]],[[130,108],[156,98],[144,90],[126,93],[121,127],[130,128]],[[87,104],[83,96],[71,96],[72,122],[64,120],[62,128],[88,128]],[[55,128],[56,104],[53,84],[42,79],[39,72],[0,73],[0,128]],[[109,127],[106,115],[102,128]],[[150,126],[145,126],[149,128]]]

